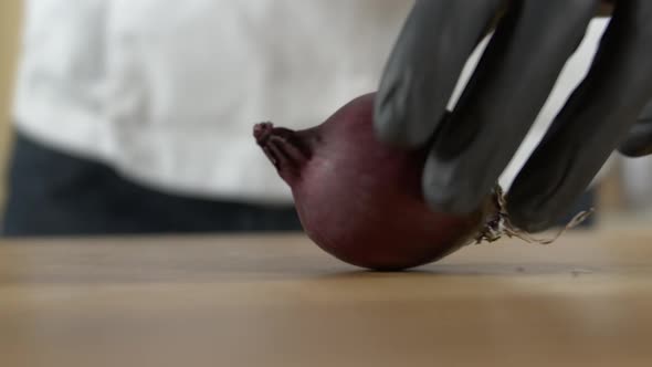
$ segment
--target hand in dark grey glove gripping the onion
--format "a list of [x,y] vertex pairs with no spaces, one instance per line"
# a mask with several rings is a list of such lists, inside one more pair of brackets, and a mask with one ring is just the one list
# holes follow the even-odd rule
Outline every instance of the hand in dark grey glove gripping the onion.
[[[386,66],[375,118],[383,141],[430,145],[423,190],[433,209],[466,213],[480,205],[600,6],[598,0],[416,1]],[[446,113],[467,57],[493,24],[473,76]],[[652,104],[640,115],[651,98],[652,1],[617,1],[586,80],[508,192],[512,221],[533,232],[547,229],[619,145],[629,155],[652,153]]]

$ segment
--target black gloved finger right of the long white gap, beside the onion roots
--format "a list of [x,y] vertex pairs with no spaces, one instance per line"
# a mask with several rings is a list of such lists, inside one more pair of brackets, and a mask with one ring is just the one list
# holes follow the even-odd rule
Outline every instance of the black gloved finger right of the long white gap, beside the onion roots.
[[553,123],[507,197],[528,231],[561,218],[652,95],[652,1],[619,1],[586,80]]

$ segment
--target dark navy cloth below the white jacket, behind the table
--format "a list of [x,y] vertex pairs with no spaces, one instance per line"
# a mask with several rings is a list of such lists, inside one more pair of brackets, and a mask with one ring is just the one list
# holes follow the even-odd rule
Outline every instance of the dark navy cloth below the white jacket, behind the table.
[[159,192],[20,133],[7,179],[0,233],[9,237],[301,230],[292,207]]

